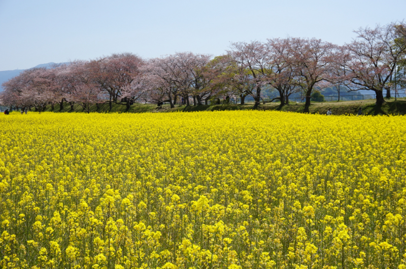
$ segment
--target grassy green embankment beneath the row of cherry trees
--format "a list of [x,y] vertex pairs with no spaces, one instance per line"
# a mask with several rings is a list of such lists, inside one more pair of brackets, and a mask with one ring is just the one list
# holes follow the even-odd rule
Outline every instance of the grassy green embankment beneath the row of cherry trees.
[[[377,107],[375,105],[375,99],[369,100],[357,100],[357,101],[340,101],[340,102],[313,102],[309,110],[306,111],[304,103],[290,103],[280,107],[279,103],[266,103],[261,104],[258,110],[282,110],[291,112],[309,112],[312,114],[324,114],[327,109],[331,107],[333,114],[343,115],[343,114],[357,114],[358,108],[362,107],[362,112],[364,114],[372,115],[386,115],[386,114],[406,114],[406,98],[398,98],[396,101],[394,98],[386,99],[386,102],[381,106]],[[225,105],[200,105],[200,106],[179,106],[171,108],[170,105],[164,104],[161,108],[157,107],[155,104],[133,104],[130,109],[126,111],[125,105],[113,104],[111,111],[109,111],[108,104],[99,104],[99,109],[96,105],[92,105],[90,108],[91,112],[130,112],[130,113],[141,113],[141,112],[191,112],[191,111],[214,111],[214,110],[249,110],[253,108],[253,103],[248,103],[244,105],[240,104],[225,104]],[[56,104],[52,110],[51,106],[47,106],[46,111],[54,112],[83,112],[83,108],[75,104],[74,109],[71,110],[69,104],[64,105],[63,109],[59,109],[59,105]]]

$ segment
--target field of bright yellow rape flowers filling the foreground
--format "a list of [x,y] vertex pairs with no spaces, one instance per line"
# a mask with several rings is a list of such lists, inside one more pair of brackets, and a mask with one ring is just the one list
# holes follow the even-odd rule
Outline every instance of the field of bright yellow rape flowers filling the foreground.
[[406,268],[404,117],[0,116],[2,268]]

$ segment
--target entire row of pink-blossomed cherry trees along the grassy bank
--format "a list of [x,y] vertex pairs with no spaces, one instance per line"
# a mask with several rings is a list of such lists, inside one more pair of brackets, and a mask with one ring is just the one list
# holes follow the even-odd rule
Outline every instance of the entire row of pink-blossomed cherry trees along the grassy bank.
[[108,102],[169,102],[181,98],[189,105],[207,104],[219,96],[247,96],[259,105],[263,89],[277,91],[281,104],[302,92],[306,105],[314,89],[335,86],[371,90],[377,104],[384,92],[404,88],[406,25],[390,23],[360,28],[350,44],[337,46],[318,39],[288,37],[261,42],[232,43],[226,54],[176,53],[142,59],[113,54],[90,61],[74,61],[53,68],[32,68],[5,82],[0,102],[7,106],[35,107],[75,103],[87,112],[91,104]]

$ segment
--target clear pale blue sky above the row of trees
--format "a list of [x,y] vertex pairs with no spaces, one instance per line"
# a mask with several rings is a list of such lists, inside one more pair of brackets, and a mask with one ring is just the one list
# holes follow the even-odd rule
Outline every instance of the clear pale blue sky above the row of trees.
[[[317,37],[400,21],[406,1],[0,0],[0,70],[132,52],[220,55],[230,42]],[[389,4],[390,3],[390,4]]]

